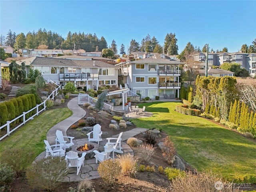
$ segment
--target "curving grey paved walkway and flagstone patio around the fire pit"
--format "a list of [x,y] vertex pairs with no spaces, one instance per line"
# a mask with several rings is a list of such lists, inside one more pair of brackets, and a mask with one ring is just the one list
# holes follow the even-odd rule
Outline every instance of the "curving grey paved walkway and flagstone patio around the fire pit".
[[[74,124],[75,122],[77,122],[78,120],[80,120],[82,117],[84,117],[86,115],[86,112],[80,108],[80,106],[78,106],[78,98],[73,98],[72,100],[70,100],[68,102],[68,108],[70,110],[72,110],[73,114],[72,116],[66,118],[65,120],[59,122],[58,124],[56,124],[55,126],[53,126],[47,133],[46,138],[48,140],[48,142],[50,143],[50,145],[54,145],[55,144],[55,138],[56,138],[56,130],[61,130],[63,132],[63,135],[66,136],[66,132],[68,130],[68,128]],[[146,117],[146,116],[145,116]],[[126,141],[128,138],[133,137],[137,134],[140,134],[141,132],[146,131],[146,128],[135,128],[133,130],[129,130],[126,132],[123,132],[122,134],[122,151],[124,152],[124,154],[130,154],[130,155],[134,155],[132,149],[130,148],[130,146],[128,146],[128,144],[126,144],[124,141]],[[112,136],[113,138],[118,137],[118,135],[116,136]],[[78,139],[78,140],[73,140],[74,141],[74,145],[79,145],[81,142],[86,143],[88,142],[88,138],[84,138],[84,139]],[[100,142],[99,146],[98,146],[98,151],[102,152],[104,151],[104,145],[106,144],[107,140],[102,139],[102,141]],[[46,152],[42,152],[37,158],[36,160],[40,160],[42,158],[44,158],[46,155]],[[87,154],[86,154],[87,155]],[[115,153],[115,157],[116,157],[116,153]],[[86,156],[85,156],[86,158]],[[64,181],[66,182],[72,182],[72,181],[80,181],[80,180],[90,180],[90,179],[94,179],[94,178],[99,178],[100,175],[97,171],[99,164],[96,164],[95,162],[95,158],[92,159],[86,159],[84,161],[84,167],[82,167],[80,169],[80,172],[78,175],[76,175],[76,168],[69,168],[68,169],[68,174],[67,176],[64,178]]]

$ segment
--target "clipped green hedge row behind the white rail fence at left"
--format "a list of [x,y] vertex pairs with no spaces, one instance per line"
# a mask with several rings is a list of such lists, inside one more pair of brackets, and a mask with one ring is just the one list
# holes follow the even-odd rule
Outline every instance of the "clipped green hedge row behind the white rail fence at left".
[[[6,121],[13,120],[36,106],[36,97],[34,94],[26,94],[17,98],[0,103],[0,126],[6,124]],[[36,113],[36,110],[28,113],[26,118],[29,118]],[[16,120],[11,124],[22,122],[22,118]]]

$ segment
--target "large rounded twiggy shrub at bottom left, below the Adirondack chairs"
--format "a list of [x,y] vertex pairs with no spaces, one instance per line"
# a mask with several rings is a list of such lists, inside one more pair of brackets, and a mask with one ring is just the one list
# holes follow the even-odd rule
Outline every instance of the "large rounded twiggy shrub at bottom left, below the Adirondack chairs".
[[26,172],[32,187],[52,191],[66,176],[67,164],[60,156],[48,156],[33,163]]

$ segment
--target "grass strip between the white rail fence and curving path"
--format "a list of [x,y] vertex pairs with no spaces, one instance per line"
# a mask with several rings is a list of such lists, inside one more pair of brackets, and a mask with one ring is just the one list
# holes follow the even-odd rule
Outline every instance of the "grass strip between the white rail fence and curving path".
[[0,154],[15,147],[24,150],[31,147],[34,151],[33,156],[36,158],[45,150],[44,140],[48,130],[71,115],[72,111],[69,108],[46,110],[39,116],[34,117],[33,120],[28,121],[21,128],[18,128],[18,130],[10,134],[10,137],[4,138],[0,142]]

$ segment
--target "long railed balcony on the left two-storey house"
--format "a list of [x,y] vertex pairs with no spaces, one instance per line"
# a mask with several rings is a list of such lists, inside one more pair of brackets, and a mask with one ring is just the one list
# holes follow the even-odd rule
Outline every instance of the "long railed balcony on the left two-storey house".
[[59,80],[94,80],[98,79],[98,73],[60,73]]

